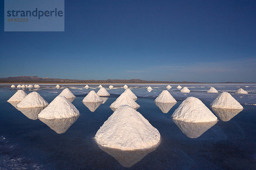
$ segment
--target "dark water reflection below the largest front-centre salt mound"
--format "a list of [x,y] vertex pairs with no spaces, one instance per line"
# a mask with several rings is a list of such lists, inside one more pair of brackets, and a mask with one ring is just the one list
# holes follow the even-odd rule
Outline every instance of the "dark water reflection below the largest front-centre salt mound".
[[148,153],[153,152],[157,149],[159,144],[146,148],[146,149],[137,149],[137,150],[120,150],[113,149],[110,147],[103,147],[98,144],[99,148],[104,152],[108,153],[110,156],[113,156],[116,161],[119,162],[123,167],[131,167],[140,160],[142,160]]

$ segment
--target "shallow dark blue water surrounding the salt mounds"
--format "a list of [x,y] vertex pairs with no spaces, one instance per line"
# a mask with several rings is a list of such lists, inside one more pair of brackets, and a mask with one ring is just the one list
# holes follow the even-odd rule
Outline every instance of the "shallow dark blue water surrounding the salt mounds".
[[[117,89],[107,89],[111,94],[104,104],[93,109],[82,102],[86,94],[98,91],[99,85],[40,85],[39,89],[25,89],[28,94],[34,90],[51,102],[62,90],[69,87],[76,95],[73,105],[80,111],[76,119],[67,120],[64,130],[58,131],[58,125],[45,124],[40,119],[29,119],[13,105],[6,102],[17,88],[10,85],[0,86],[0,169],[254,169],[256,167],[256,85],[255,84],[196,84],[186,85],[189,94],[182,94],[171,85],[169,92],[177,100],[173,106],[156,105],[154,99],[166,85],[150,85],[153,90],[146,91],[148,85],[128,85],[138,96],[137,109],[161,134],[161,142],[150,152],[128,154],[128,159],[136,160],[125,167],[122,153],[102,150],[93,140],[99,127],[113,113],[109,107],[124,89],[123,85],[114,85]],[[109,85],[103,85],[107,88]],[[181,85],[182,87],[184,85]],[[249,86],[249,87],[245,87]],[[192,125],[174,122],[172,113],[188,96],[201,99],[209,107],[218,94],[209,94],[209,87],[219,92],[228,91],[244,107],[234,117],[219,118],[216,124]],[[235,94],[243,88],[249,94]],[[162,109],[165,113],[163,113]],[[170,109],[170,110],[169,110]],[[169,111],[168,111],[169,110]],[[167,113],[166,113],[167,112]],[[223,112],[225,113],[225,112]],[[219,114],[219,113],[218,113]],[[228,120],[228,121],[227,121]],[[57,122],[58,123],[58,122]],[[73,123],[73,124],[72,124]],[[61,124],[61,125],[62,125]],[[71,124],[71,125],[70,125]],[[69,127],[70,126],[70,127]],[[63,127],[63,126],[62,126]],[[68,128],[69,127],[69,128]],[[61,134],[59,134],[61,133]],[[201,134],[202,133],[202,134]],[[121,154],[121,155],[120,155]],[[112,156],[111,156],[112,155]],[[127,153],[125,153],[125,156]],[[127,156],[126,156],[127,157]],[[138,159],[139,158],[139,159]],[[142,159],[141,159],[142,158]],[[141,160],[140,160],[141,159]],[[127,161],[126,161],[127,162]],[[132,161],[130,161],[132,162]],[[131,167],[130,167],[131,165]]]

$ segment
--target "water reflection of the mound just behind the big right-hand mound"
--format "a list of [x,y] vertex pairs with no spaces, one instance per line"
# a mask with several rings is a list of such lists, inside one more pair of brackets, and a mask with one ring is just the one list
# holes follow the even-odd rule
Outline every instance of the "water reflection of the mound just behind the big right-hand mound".
[[218,116],[223,122],[230,121],[233,117],[235,117],[238,113],[240,113],[243,109],[221,109],[221,108],[212,108],[213,113]]

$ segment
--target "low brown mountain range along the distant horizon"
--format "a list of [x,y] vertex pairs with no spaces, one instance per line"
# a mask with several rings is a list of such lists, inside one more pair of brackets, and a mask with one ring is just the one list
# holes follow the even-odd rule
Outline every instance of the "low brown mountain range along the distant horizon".
[[[37,76],[19,76],[0,78],[0,83],[168,83],[168,84],[194,84],[204,82],[174,82],[174,81],[147,81],[142,79],[107,79],[107,80],[79,80],[79,79],[54,79],[42,78]],[[223,82],[222,82],[223,83]],[[243,82],[225,82],[225,83],[243,83]]]

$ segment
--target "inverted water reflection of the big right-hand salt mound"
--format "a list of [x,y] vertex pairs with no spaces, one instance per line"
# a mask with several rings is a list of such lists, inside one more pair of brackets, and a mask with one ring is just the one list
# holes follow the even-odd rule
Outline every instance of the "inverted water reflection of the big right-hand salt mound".
[[175,124],[180,128],[182,133],[184,133],[189,138],[198,138],[209,128],[215,125],[218,121],[195,123],[173,119],[173,122],[175,122]]

